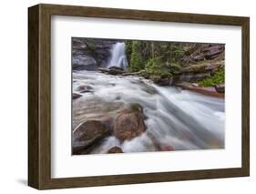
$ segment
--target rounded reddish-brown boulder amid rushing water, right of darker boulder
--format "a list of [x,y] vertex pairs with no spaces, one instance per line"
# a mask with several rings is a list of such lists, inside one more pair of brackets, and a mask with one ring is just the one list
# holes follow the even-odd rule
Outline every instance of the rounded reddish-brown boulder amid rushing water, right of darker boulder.
[[143,108],[138,104],[119,113],[113,128],[114,135],[121,141],[136,138],[145,131]]

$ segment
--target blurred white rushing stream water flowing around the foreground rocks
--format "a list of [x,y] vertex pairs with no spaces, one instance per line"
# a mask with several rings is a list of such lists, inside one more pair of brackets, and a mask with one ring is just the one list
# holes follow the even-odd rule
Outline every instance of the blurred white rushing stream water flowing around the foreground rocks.
[[80,93],[73,102],[73,128],[87,119],[116,117],[129,103],[144,110],[147,130],[123,143],[111,136],[93,153],[118,146],[124,152],[224,148],[224,100],[181,90],[158,87],[140,77],[110,76],[97,72],[73,73],[73,91],[87,85],[93,92]]

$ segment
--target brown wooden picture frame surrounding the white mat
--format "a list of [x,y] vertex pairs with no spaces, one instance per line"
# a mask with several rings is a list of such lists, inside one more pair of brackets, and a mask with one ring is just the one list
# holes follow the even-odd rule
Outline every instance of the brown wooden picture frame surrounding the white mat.
[[[100,14],[98,14],[100,12]],[[114,13],[114,14],[113,14]],[[117,14],[118,13],[118,14]],[[178,172],[51,179],[51,15],[94,16],[162,22],[230,25],[242,28],[242,167]],[[118,15],[118,16],[117,16]],[[154,15],[154,16],[152,16]],[[171,17],[170,17],[171,16]],[[28,8],[28,185],[35,189],[61,189],[137,184],[189,179],[215,179],[250,175],[250,19],[227,15],[128,10],[69,5]],[[44,161],[44,162],[43,162]]]

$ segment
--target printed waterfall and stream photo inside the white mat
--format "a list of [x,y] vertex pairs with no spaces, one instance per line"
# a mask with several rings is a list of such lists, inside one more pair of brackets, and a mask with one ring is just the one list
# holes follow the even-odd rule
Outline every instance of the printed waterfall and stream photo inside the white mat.
[[73,155],[224,148],[224,45],[73,38],[72,53]]

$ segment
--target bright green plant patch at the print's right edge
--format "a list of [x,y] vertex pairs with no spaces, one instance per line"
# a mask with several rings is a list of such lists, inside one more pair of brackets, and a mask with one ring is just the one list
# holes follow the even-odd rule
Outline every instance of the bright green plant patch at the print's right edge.
[[200,87],[214,87],[218,84],[225,83],[225,69],[224,67],[220,67],[212,77],[205,78],[204,80],[200,81]]

